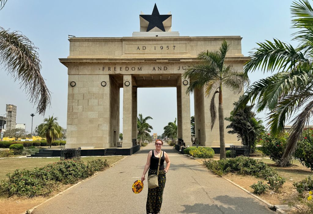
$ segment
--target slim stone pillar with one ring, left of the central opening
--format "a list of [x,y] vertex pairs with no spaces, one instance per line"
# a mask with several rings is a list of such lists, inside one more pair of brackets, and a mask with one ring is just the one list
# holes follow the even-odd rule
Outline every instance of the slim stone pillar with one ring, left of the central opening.
[[132,147],[132,77],[123,75],[123,144]]

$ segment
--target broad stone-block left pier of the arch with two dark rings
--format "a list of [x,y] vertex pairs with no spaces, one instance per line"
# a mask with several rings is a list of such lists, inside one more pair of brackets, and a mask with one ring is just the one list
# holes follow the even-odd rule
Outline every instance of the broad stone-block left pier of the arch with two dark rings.
[[[109,75],[69,75],[66,148],[110,147]],[[107,85],[103,87],[101,82]]]

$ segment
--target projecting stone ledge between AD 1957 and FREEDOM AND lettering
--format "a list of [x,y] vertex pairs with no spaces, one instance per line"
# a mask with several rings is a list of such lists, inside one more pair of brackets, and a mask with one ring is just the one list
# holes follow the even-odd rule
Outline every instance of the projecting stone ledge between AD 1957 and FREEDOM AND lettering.
[[[245,63],[250,57],[231,56],[226,57],[225,62],[242,62]],[[77,63],[190,63],[199,62],[194,58],[59,58],[60,62],[67,66],[68,64]]]

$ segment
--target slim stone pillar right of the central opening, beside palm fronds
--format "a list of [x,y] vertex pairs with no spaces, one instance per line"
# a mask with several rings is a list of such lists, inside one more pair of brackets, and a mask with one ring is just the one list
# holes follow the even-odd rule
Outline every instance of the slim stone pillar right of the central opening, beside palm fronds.
[[186,94],[188,86],[189,79],[181,79],[182,140],[184,140],[186,146],[192,146],[190,128],[190,96],[189,94]]

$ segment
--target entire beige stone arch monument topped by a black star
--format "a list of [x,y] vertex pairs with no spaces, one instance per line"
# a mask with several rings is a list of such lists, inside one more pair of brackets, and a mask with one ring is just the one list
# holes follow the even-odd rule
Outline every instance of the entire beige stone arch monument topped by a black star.
[[[70,38],[69,56],[59,59],[68,68],[67,148],[116,147],[123,132],[123,148],[137,139],[137,88],[176,87],[178,138],[192,145],[189,79],[182,79],[188,64],[203,50],[218,50],[230,42],[225,63],[243,70],[249,58],[241,53],[240,36],[179,36],[171,31],[172,15],[140,15],[140,32],[132,37]],[[123,130],[120,130],[120,88],[123,88]],[[210,97],[194,91],[196,137],[203,146],[219,146],[218,122],[210,129]],[[224,115],[229,116],[239,95],[224,89]],[[218,99],[216,98],[216,101]],[[228,125],[225,121],[225,126]],[[240,144],[225,131],[225,144]]]

